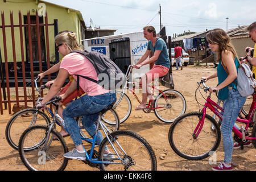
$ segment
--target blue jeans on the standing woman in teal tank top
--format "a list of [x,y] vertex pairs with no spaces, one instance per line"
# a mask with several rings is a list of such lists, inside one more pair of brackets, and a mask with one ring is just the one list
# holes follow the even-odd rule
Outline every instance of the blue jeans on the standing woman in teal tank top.
[[242,97],[235,89],[229,89],[228,98],[225,100],[223,108],[224,114],[221,122],[221,133],[225,152],[224,163],[231,163],[233,152],[232,129],[237,120],[240,109],[245,104],[246,97]]

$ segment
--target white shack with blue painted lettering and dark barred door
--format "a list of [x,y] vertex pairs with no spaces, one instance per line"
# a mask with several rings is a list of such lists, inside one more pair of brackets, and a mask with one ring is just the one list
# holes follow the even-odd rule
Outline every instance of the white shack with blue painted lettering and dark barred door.
[[[126,73],[130,64],[137,63],[143,56],[148,43],[143,32],[103,36],[81,41],[86,51],[98,51],[105,54],[118,65],[123,73]],[[150,65],[144,65],[141,69],[133,69],[132,80],[141,77],[143,73],[149,70]]]

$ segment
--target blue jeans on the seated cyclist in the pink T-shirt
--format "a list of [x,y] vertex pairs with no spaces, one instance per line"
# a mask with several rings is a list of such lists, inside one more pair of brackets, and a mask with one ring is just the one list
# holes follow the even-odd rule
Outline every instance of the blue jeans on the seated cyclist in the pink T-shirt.
[[[65,127],[75,144],[79,146],[82,144],[80,129],[77,125],[75,117],[82,117],[82,126],[85,127],[86,131],[92,137],[96,133],[96,125],[94,122],[97,121],[100,111],[105,109],[117,100],[115,93],[105,93],[98,96],[82,96],[69,104],[63,111],[63,119],[65,122]],[[102,134],[98,131],[96,143],[101,144]]]

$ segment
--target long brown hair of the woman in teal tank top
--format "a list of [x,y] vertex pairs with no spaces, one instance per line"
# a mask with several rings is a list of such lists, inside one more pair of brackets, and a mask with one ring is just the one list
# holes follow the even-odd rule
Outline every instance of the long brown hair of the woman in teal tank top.
[[221,60],[222,51],[231,51],[234,56],[237,56],[236,50],[231,43],[231,39],[221,28],[216,28],[209,31],[206,35],[206,39],[210,44],[218,44],[218,61]]

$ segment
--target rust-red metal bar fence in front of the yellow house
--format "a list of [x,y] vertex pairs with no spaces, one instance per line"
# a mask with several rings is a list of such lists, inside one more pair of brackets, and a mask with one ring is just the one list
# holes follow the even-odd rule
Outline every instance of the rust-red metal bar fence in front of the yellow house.
[[[10,13],[10,25],[5,24],[5,15],[2,11],[1,13],[2,18],[2,24],[0,24],[0,28],[2,29],[2,37],[3,37],[3,48],[0,49],[2,52],[2,55],[4,57],[4,60],[1,60],[0,64],[2,66],[2,62],[5,61],[4,68],[1,68],[1,84],[0,84],[0,112],[3,114],[3,104],[5,104],[5,109],[8,107],[9,114],[11,114],[11,102],[16,102],[16,105],[19,107],[19,102],[24,102],[25,108],[27,108],[27,102],[32,102],[33,106],[35,106],[35,85],[34,85],[34,70],[35,67],[38,67],[39,71],[38,73],[42,73],[42,59],[44,65],[47,64],[47,68],[50,68],[50,55],[49,55],[49,31],[48,26],[54,26],[54,32],[55,35],[57,34],[57,20],[55,20],[54,23],[49,24],[48,23],[48,17],[47,13],[44,16],[44,23],[42,23],[42,19],[40,18],[39,22],[39,15],[38,12],[36,12],[36,15],[31,18],[30,12],[27,13],[26,20],[24,24],[22,24],[22,14],[19,11],[19,24],[14,24],[13,19],[13,13]],[[31,22],[31,19],[33,22]],[[23,28],[25,27],[25,28]],[[15,34],[14,34],[14,28],[19,28],[19,40],[15,40]],[[26,29],[26,30],[24,30]],[[42,39],[42,32],[40,34],[40,30],[45,30],[45,40]],[[16,30],[16,29],[15,29]],[[25,32],[23,32],[25,31]],[[33,32],[31,32],[33,31]],[[11,38],[6,36],[6,32],[11,32]],[[26,35],[26,38],[24,39],[23,35]],[[32,36],[33,34],[33,36]],[[34,38],[34,40],[32,40]],[[36,39],[35,39],[36,38]],[[44,36],[43,36],[44,39]],[[25,44],[26,47],[24,48],[23,43],[24,40],[27,41]],[[34,44],[32,43],[34,42]],[[7,57],[7,42],[11,42],[12,44],[12,52],[13,52],[13,63],[10,63],[10,58]],[[20,52],[21,57],[16,57],[16,50],[15,50],[15,43],[20,43]],[[36,47],[36,48],[35,48]],[[42,48],[43,47],[43,48]],[[35,53],[36,50],[36,53]],[[41,51],[38,51],[41,50]],[[26,51],[26,55],[24,55],[24,51]],[[25,60],[25,56],[28,59]],[[59,53],[55,55],[55,59],[58,59]],[[35,66],[35,63],[37,64]],[[19,64],[19,70],[17,71],[17,64]],[[13,66],[12,69],[13,75],[9,72],[10,66]],[[26,71],[26,68],[28,67],[28,71]],[[28,72],[28,75],[27,75]],[[36,74],[37,75],[37,74]],[[18,78],[19,80],[22,80],[22,86],[24,90],[24,99],[19,99],[19,92],[18,92]],[[29,80],[32,82],[32,99],[29,99],[27,97],[27,90],[26,90],[26,82]],[[51,76],[48,76],[48,80],[51,80]],[[15,82],[15,97],[16,100],[11,100],[10,96],[10,82]],[[42,81],[40,82],[40,85],[42,85]],[[5,90],[7,90],[7,98]],[[2,98],[2,93],[3,97]],[[43,96],[43,93],[42,93]]]

